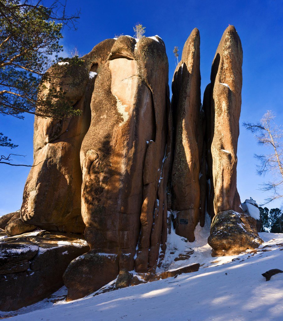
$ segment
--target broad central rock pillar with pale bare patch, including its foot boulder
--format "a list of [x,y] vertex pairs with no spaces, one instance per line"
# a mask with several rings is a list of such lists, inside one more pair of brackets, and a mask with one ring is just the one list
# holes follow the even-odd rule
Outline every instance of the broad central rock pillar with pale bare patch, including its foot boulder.
[[[91,251],[64,275],[68,299],[98,290],[121,269],[154,270],[166,241],[172,116],[162,39],[119,37],[96,78],[91,109],[81,148]],[[84,280],[98,269],[107,273]]]

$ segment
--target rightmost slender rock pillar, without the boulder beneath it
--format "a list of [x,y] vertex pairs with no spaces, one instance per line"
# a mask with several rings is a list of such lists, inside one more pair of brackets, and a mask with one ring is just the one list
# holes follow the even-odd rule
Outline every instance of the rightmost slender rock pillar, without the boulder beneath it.
[[[214,213],[230,209],[241,211],[236,167],[242,101],[242,63],[241,40],[234,26],[229,26],[218,45],[210,76],[210,150]],[[238,198],[237,202],[234,202],[235,197]]]

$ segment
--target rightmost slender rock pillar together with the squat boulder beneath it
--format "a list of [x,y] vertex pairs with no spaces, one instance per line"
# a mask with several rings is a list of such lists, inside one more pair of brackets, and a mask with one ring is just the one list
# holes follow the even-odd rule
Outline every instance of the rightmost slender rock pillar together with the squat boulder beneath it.
[[[243,50],[234,26],[223,33],[204,95],[206,115],[208,213],[213,218],[208,244],[212,256],[256,248],[256,220],[243,213],[237,191],[237,143],[241,112]],[[234,210],[236,212],[233,212]],[[238,212],[238,213],[237,213]]]

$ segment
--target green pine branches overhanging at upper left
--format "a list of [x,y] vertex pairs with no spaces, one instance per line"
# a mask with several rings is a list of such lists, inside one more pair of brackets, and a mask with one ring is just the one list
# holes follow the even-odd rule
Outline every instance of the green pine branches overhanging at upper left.
[[[23,119],[29,113],[62,119],[80,114],[66,103],[61,89],[38,95],[41,83],[58,76],[56,68],[47,73],[49,67],[64,61],[58,57],[63,51],[59,45],[62,28],[76,29],[79,12],[69,16],[65,9],[66,4],[58,0],[49,8],[43,1],[0,0],[0,115]],[[55,57],[50,58],[52,55]],[[80,60],[75,56],[68,62]],[[0,146],[17,147],[1,128]]]

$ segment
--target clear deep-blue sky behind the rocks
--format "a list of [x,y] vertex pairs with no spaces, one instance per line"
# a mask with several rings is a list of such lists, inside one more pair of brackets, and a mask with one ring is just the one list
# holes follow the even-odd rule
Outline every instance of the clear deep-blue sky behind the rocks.
[[[243,90],[240,125],[257,121],[271,109],[282,124],[282,27],[283,1],[75,1],[67,0],[69,12],[81,9],[77,31],[63,31],[66,53],[78,48],[88,53],[100,41],[124,34],[133,36],[133,26],[146,26],[146,36],[159,35],[165,42],[169,60],[169,86],[175,69],[172,50],[181,50],[191,30],[200,31],[201,94],[210,82],[210,69],[217,45],[229,24],[235,26],[243,46]],[[181,56],[181,54],[180,54]],[[14,157],[15,163],[32,164],[33,117],[24,120],[0,116],[0,132],[12,138],[19,147],[0,147],[0,154],[26,155]],[[252,134],[240,126],[238,142],[237,184],[242,202],[252,196],[259,204],[265,195],[259,190],[265,178],[256,175],[254,153],[264,153]],[[21,207],[23,187],[29,168],[0,164],[0,215]],[[52,187],[50,187],[52,188]],[[269,208],[280,202],[268,204]]]

